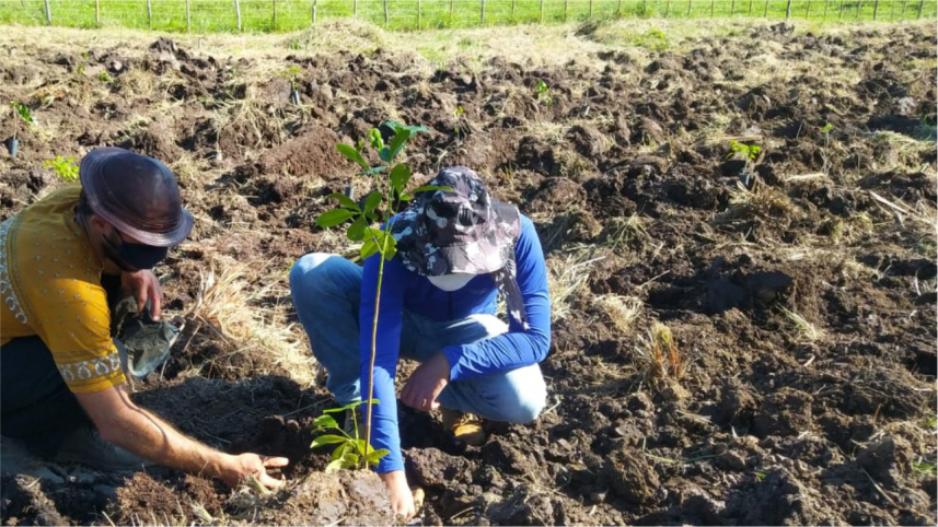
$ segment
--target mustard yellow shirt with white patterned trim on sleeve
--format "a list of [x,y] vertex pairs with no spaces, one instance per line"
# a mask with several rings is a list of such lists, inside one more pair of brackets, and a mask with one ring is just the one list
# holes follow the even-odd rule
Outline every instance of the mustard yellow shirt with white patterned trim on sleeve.
[[0,223],[0,346],[38,336],[68,387],[86,394],[125,378],[101,265],[74,221],[80,194],[56,190]]

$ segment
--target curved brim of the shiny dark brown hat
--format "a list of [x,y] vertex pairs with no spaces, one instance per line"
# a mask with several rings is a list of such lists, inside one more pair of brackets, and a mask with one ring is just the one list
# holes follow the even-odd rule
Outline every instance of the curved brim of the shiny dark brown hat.
[[175,229],[165,233],[154,233],[135,227],[118,218],[116,214],[113,214],[106,208],[102,207],[101,200],[99,199],[100,188],[97,187],[97,179],[92,176],[94,174],[100,174],[103,171],[104,165],[112,157],[126,152],[127,151],[124,149],[105,147],[92,150],[84,156],[84,159],[81,160],[79,180],[81,181],[82,188],[85,190],[85,196],[88,197],[88,202],[91,206],[91,209],[96,215],[100,215],[114,225],[115,229],[137,239],[141,244],[151,245],[153,247],[171,247],[173,245],[181,244],[193,231],[193,224],[195,223],[193,215],[185,209],[182,209],[182,216],[180,218],[180,222],[176,224]]

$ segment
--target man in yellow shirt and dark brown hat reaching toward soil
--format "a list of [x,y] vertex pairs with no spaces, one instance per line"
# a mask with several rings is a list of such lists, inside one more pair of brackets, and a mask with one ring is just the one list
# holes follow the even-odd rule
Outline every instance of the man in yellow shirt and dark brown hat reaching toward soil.
[[0,223],[0,431],[58,460],[111,469],[147,460],[232,485],[248,475],[281,485],[267,469],[287,459],[215,450],[130,400],[102,283],[119,277],[158,318],[162,290],[150,269],[188,236],[193,218],[151,157],[97,149],[79,174],[81,186]]

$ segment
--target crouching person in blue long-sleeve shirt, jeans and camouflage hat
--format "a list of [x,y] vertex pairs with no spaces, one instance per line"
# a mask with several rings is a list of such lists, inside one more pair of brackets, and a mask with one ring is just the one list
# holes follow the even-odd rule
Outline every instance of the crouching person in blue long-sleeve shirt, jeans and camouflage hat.
[[[444,168],[392,222],[397,255],[385,262],[378,307],[372,445],[387,448],[378,472],[394,512],[409,519],[394,376],[398,358],[419,361],[401,401],[442,410],[443,425],[471,445],[485,441],[480,418],[528,423],[544,408],[537,363],[551,347],[551,298],[537,233],[518,209],[488,194],[465,167]],[[297,314],[339,405],[368,394],[380,255],[364,268],[309,254],[290,271]],[[495,316],[506,302],[509,324]]]

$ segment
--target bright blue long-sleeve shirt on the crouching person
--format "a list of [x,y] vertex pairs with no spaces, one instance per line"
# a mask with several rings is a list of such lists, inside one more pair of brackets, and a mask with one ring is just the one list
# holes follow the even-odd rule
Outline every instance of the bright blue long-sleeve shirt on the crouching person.
[[[441,350],[450,363],[450,383],[536,364],[547,356],[551,348],[547,269],[537,232],[524,215],[521,216],[521,234],[514,246],[514,258],[529,329],[510,320],[507,333]],[[380,261],[380,255],[364,261],[361,284],[359,350],[362,399],[368,397],[374,293]],[[397,258],[384,262],[374,358],[373,397],[379,403],[372,410],[372,446],[387,448],[391,454],[381,459],[378,472],[404,470],[394,391],[404,309],[431,320],[459,320],[473,314],[495,314],[497,297],[495,281],[488,274],[475,277],[464,288],[450,293],[431,284],[426,277],[407,270]]]

